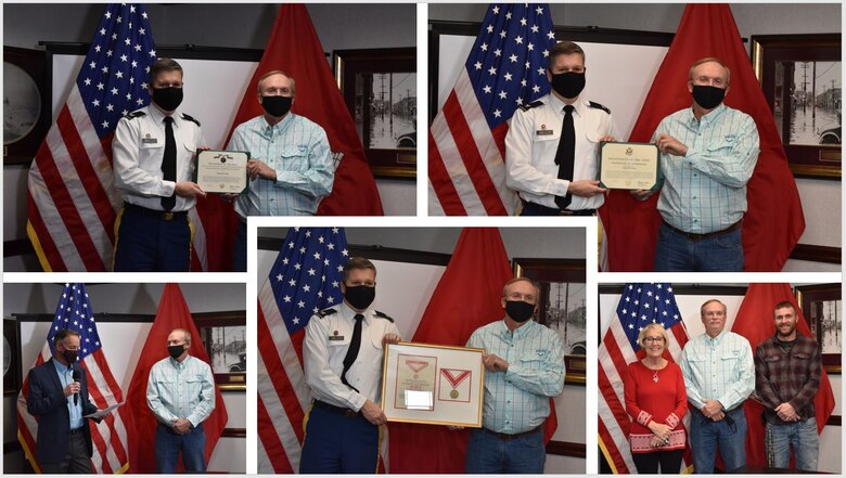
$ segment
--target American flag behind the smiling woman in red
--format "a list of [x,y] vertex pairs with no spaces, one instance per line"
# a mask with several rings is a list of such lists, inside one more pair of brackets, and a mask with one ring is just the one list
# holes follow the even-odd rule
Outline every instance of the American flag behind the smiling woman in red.
[[[688,331],[676,305],[670,284],[626,284],[599,349],[599,435],[600,448],[614,473],[637,473],[629,447],[631,419],[626,413],[623,396],[623,374],[629,363],[644,353],[638,344],[638,334],[649,323],[661,323],[670,335],[667,346],[671,360],[678,362],[688,343]],[[668,358],[669,359],[669,358]],[[690,416],[684,418],[689,428]],[[690,448],[684,463],[692,463]]]

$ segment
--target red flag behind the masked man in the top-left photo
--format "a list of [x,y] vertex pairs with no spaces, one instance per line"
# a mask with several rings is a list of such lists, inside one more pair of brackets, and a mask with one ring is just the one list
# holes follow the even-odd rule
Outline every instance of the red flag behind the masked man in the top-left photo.
[[[303,3],[285,3],[279,8],[265,54],[247,85],[232,130],[262,113],[256,98],[256,85],[261,75],[274,69],[285,72],[296,81],[291,111],[323,127],[333,156],[343,154],[335,170],[332,194],[320,203],[318,215],[382,216],[382,199],[364,147]],[[229,135],[232,135],[231,131]]]

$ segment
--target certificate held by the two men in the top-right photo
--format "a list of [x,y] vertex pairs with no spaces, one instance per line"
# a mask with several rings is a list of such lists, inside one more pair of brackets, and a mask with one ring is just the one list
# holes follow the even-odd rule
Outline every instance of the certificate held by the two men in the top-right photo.
[[653,143],[603,142],[600,145],[600,186],[654,190],[658,184],[658,146]]

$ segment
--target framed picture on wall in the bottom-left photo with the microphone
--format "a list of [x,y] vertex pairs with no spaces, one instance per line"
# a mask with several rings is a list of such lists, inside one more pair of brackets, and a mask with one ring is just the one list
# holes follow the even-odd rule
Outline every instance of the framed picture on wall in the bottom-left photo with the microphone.
[[221,390],[246,390],[246,311],[194,314],[200,338]]

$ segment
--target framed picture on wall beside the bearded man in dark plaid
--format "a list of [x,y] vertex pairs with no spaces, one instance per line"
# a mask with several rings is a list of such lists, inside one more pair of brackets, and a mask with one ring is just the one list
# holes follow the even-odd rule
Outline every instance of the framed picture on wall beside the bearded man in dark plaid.
[[841,284],[796,287],[796,300],[820,346],[822,366],[830,374],[843,370],[843,300]]

